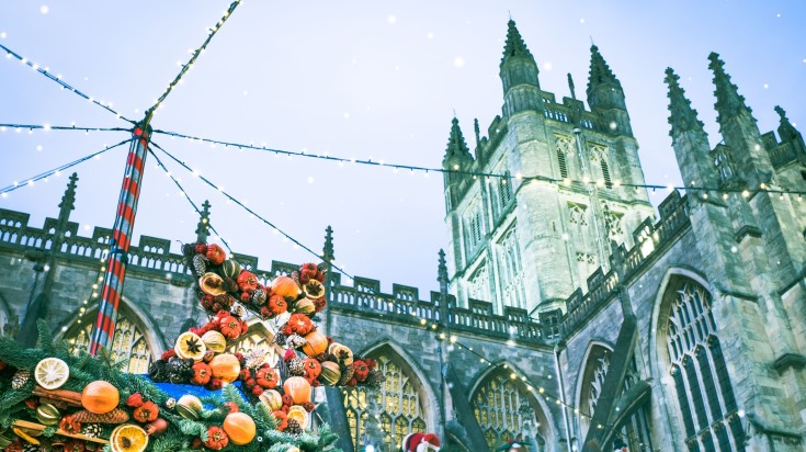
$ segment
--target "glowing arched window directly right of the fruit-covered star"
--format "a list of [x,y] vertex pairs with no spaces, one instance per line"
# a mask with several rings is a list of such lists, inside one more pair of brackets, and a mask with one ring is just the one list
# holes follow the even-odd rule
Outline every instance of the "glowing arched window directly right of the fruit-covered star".
[[407,434],[425,432],[428,411],[421,383],[389,348],[370,353],[370,357],[378,362],[386,381],[377,389],[343,391],[350,436],[356,450],[374,440],[385,444],[382,450],[396,451]]

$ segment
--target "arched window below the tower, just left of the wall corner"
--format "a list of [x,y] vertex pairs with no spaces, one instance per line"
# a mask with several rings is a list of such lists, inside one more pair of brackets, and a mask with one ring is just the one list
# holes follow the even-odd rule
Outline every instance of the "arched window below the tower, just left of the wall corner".
[[476,388],[470,397],[476,420],[491,450],[514,438],[530,438],[532,433],[536,433],[540,447],[549,434],[546,417],[523,382],[511,378],[510,374],[500,366]]

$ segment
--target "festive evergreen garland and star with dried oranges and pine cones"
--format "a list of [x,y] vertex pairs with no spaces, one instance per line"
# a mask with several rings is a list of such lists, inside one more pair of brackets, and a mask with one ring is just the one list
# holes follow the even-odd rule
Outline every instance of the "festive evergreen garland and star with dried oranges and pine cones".
[[[377,386],[384,375],[317,331],[327,269],[306,263],[263,285],[217,245],[182,251],[211,318],[182,332],[148,376],[124,373],[105,352],[71,354],[43,320],[38,349],[0,338],[0,450],[339,452],[328,425],[310,430],[311,387]],[[279,325],[282,358],[227,351],[250,314]]]

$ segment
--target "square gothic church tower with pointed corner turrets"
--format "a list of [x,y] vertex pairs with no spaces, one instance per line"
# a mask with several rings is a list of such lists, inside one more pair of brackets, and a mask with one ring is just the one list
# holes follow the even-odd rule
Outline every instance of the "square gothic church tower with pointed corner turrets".
[[631,231],[654,215],[646,191],[632,187],[644,173],[624,91],[592,46],[590,110],[570,77],[571,97],[557,103],[511,20],[499,74],[503,109],[488,136],[476,122],[472,154],[454,118],[445,150],[443,168],[456,171],[444,178],[451,287],[465,307],[565,310],[609,268],[610,240],[631,247]]

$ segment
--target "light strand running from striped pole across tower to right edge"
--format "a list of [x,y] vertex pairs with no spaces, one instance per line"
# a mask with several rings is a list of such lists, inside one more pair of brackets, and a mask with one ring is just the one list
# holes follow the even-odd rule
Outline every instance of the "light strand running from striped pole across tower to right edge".
[[[276,149],[276,148],[270,148],[265,146],[256,146],[252,144],[243,144],[243,143],[234,143],[234,142],[222,142],[217,139],[209,139],[209,138],[200,138],[196,136],[185,135],[177,132],[166,132],[160,129],[155,129],[154,133],[163,134],[177,138],[185,138],[191,142],[200,142],[200,143],[208,143],[211,145],[222,145],[224,147],[234,147],[238,149],[252,149],[252,150],[260,150],[269,154],[274,155],[282,155],[282,156],[290,156],[290,157],[306,157],[306,158],[314,158],[314,159],[320,159],[320,160],[329,160],[329,161],[336,161],[339,163],[357,163],[357,165],[365,165],[371,167],[387,167],[398,170],[408,170],[408,171],[418,171],[418,172],[436,172],[436,173],[443,173],[443,174],[455,174],[455,176],[465,176],[465,177],[473,177],[475,178],[495,178],[500,179],[501,183],[512,183],[512,181],[543,181],[548,182],[555,185],[571,185],[571,184],[583,184],[583,185],[601,185],[605,187],[605,182],[603,180],[597,181],[597,180],[571,180],[571,179],[556,179],[556,178],[549,178],[546,176],[522,176],[522,174],[509,174],[509,173],[496,173],[496,172],[484,172],[484,171],[464,171],[457,168],[431,168],[431,167],[424,167],[424,166],[417,166],[417,165],[404,165],[404,163],[389,163],[384,161],[375,161],[372,159],[356,159],[356,158],[345,158],[345,157],[337,157],[331,156],[329,154],[310,154],[305,151],[293,151],[293,150],[284,150],[284,149]],[[776,194],[798,194],[804,195],[806,194],[806,191],[798,191],[798,190],[784,190],[784,189],[774,189],[767,184],[761,184],[756,190],[749,190],[746,188],[713,188],[713,187],[699,187],[699,185],[672,185],[672,184],[648,184],[648,183],[625,183],[622,181],[613,181],[608,183],[610,187],[625,187],[631,189],[646,189],[651,190],[655,192],[656,190],[683,190],[683,191],[692,191],[692,192],[702,192],[704,194],[707,194],[708,192],[713,193],[740,193],[742,197],[749,197],[751,194],[756,194],[759,192],[768,192],[768,193],[776,193]]]

